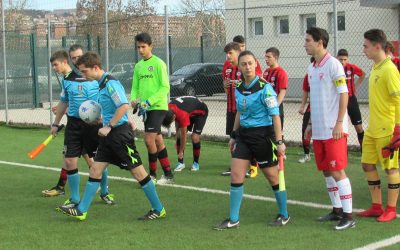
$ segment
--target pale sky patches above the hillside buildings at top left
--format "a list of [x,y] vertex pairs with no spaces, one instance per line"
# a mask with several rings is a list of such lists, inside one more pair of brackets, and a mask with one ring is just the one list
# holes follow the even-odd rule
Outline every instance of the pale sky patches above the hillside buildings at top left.
[[[7,2],[7,1],[5,1]],[[30,0],[28,1],[29,9],[41,9],[41,10],[54,10],[54,9],[73,9],[76,7],[76,0]],[[176,2],[173,0],[160,0],[160,9],[164,9],[164,5],[173,4],[176,6]]]

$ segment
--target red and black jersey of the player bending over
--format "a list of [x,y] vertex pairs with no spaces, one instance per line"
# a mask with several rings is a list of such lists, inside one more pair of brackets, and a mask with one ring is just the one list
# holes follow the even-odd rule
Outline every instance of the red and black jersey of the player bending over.
[[175,122],[179,128],[190,125],[190,118],[208,114],[207,105],[195,96],[181,96],[171,99],[168,109],[175,114]]

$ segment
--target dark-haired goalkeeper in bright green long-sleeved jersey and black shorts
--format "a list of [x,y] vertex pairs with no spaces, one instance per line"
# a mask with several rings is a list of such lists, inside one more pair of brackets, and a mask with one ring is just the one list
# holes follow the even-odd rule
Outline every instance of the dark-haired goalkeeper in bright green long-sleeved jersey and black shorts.
[[152,40],[149,34],[135,36],[135,43],[140,60],[134,69],[131,91],[131,105],[139,104],[145,112],[144,140],[147,146],[150,175],[156,180],[157,157],[164,175],[158,180],[160,184],[174,183],[167,148],[161,134],[161,123],[168,111],[169,80],[167,66],[153,55]]

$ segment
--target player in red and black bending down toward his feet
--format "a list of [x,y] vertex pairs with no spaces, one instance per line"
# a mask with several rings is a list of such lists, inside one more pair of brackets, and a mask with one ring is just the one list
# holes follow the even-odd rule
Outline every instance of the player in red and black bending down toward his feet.
[[164,118],[163,126],[169,128],[175,121],[176,128],[176,151],[178,163],[175,172],[180,172],[185,168],[183,157],[186,147],[186,133],[192,132],[193,145],[193,164],[192,171],[199,171],[200,164],[200,135],[207,121],[207,105],[194,96],[182,96],[172,99],[168,104],[168,113]]

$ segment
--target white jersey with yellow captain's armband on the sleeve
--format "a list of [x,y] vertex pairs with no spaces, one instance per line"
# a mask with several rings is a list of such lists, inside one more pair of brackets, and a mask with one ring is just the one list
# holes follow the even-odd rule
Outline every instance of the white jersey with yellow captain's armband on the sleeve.
[[[331,139],[339,113],[340,94],[348,92],[343,66],[327,53],[319,64],[310,64],[307,73],[310,84],[312,139]],[[343,132],[348,134],[347,107],[342,125]]]

